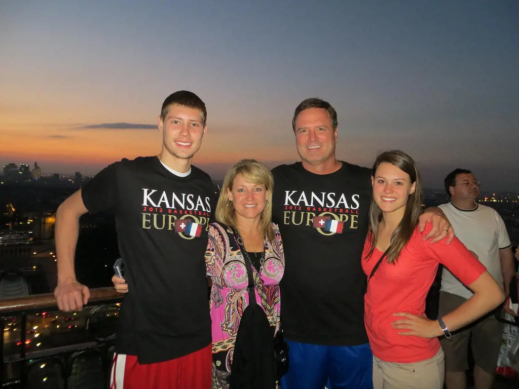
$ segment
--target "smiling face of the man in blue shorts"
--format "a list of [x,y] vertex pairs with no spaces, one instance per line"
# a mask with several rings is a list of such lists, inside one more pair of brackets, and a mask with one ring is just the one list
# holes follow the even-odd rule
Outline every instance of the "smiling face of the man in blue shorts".
[[303,162],[319,164],[335,159],[337,129],[324,108],[308,108],[297,115],[294,123],[297,152]]

